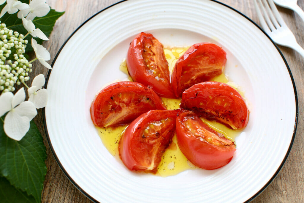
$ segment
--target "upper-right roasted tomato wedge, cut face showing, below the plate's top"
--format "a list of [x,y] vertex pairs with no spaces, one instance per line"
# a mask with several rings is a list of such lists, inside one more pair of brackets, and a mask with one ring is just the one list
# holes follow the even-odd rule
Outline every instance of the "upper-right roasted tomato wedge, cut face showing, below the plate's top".
[[176,61],[172,72],[172,87],[176,97],[199,82],[209,81],[220,75],[226,64],[226,52],[216,44],[198,43],[192,45]]

